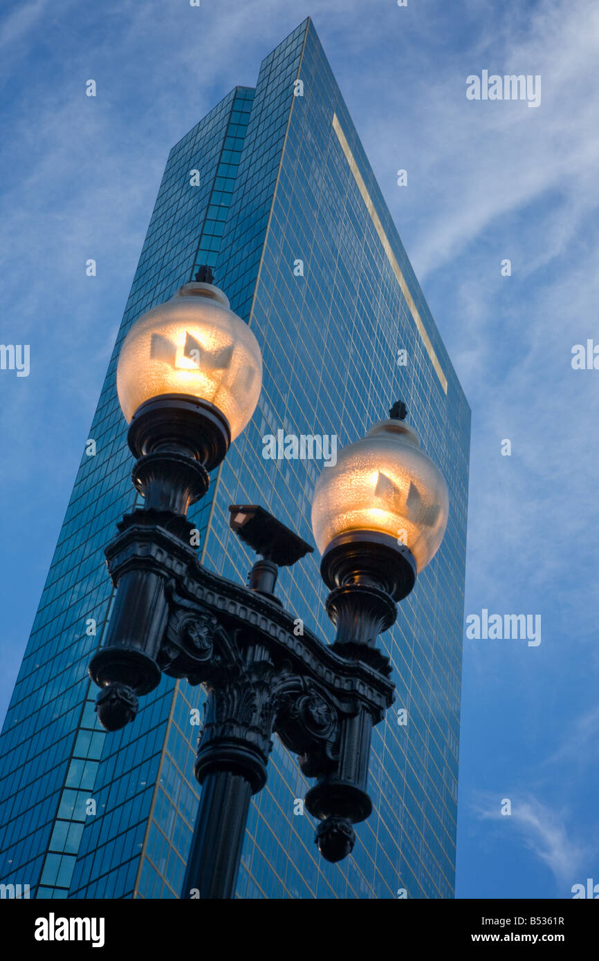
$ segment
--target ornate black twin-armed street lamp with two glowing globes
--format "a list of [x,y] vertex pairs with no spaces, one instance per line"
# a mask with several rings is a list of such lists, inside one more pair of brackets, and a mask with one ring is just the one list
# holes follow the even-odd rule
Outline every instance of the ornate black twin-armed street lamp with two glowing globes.
[[210,283],[187,283],[128,333],[119,400],[144,506],[126,514],[106,556],[117,588],[104,647],[89,665],[107,730],[133,721],[161,674],[205,683],[195,762],[202,785],[182,898],[234,897],[250,798],[266,782],[273,734],[314,778],[305,799],[327,860],[354,847],[367,818],[372,727],[393,702],[378,635],[396,618],[447,521],[447,488],[397,404],[342,449],[314,490],[312,530],[330,588],[332,645],[297,630],[275,594],[278,569],[312,547],[260,505],[232,505],[230,524],[259,555],[248,586],[198,563],[189,505],[250,420],[262,357],[246,324]]

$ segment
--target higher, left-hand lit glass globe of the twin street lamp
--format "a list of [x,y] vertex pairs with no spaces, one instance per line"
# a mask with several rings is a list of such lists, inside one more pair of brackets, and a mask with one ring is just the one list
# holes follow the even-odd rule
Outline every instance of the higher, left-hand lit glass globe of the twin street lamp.
[[216,407],[234,440],[252,417],[261,389],[258,341],[212,283],[186,283],[139,317],[118,358],[116,390],[128,423],[145,401],[185,395]]

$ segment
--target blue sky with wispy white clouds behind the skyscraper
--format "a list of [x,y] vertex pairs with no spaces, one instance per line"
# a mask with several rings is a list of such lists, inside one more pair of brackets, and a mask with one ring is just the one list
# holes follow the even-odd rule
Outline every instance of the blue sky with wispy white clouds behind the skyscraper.
[[[464,638],[457,896],[569,898],[599,882],[595,0],[4,7],[0,716],[168,151],[307,15],[472,407],[465,613],[541,615],[537,647]],[[468,101],[485,69],[540,106]]]

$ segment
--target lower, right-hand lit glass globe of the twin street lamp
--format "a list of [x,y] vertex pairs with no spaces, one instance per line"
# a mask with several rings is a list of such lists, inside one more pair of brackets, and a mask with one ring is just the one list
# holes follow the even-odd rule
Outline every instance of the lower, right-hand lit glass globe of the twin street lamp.
[[385,534],[412,553],[419,573],[436,554],[447,526],[445,480],[403,421],[375,424],[342,448],[316,482],[312,531],[321,554],[336,538]]

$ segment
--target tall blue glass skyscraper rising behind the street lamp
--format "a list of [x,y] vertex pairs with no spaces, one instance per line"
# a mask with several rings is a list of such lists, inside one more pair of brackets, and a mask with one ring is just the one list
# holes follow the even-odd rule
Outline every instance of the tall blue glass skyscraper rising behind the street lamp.
[[[251,805],[239,898],[451,898],[454,890],[470,411],[310,20],[170,152],[106,381],[0,739],[0,879],[37,898],[177,898],[197,809],[201,688],[162,678],[106,734],[87,663],[111,616],[103,548],[134,504],[115,368],[137,317],[209,264],[256,334],[262,398],[191,512],[201,559],[245,580],[230,504],[312,540],[314,460],[262,438],[361,437],[401,398],[450,492],[443,544],[381,645],[397,702],[374,729],[370,819],[337,865],[302,813],[307,783],[275,738]],[[405,352],[405,353],[402,353]],[[93,441],[94,443],[90,443]],[[325,640],[317,555],[281,571],[288,610]],[[405,894],[404,894],[405,893]]]

